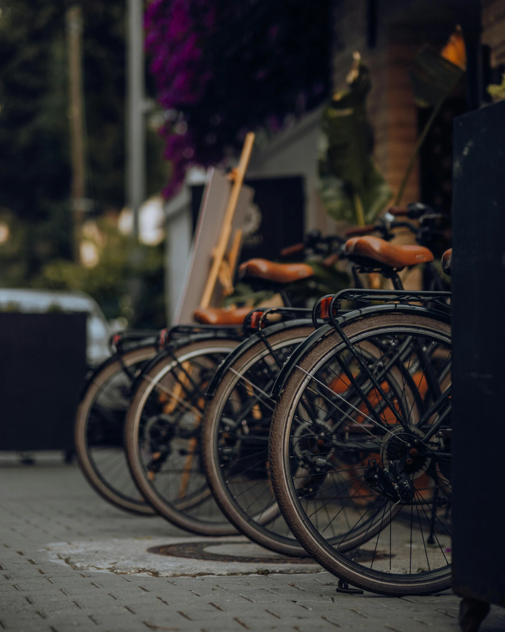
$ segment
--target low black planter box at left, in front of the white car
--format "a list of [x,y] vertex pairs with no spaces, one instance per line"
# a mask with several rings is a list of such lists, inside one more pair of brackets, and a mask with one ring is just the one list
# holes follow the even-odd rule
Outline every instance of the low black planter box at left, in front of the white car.
[[0,313],[0,450],[73,449],[87,313]]

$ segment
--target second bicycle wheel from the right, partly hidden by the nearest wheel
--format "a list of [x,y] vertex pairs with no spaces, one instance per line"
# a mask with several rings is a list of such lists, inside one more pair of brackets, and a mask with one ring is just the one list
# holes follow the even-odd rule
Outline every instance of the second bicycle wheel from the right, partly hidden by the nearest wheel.
[[268,474],[273,382],[292,351],[314,331],[285,329],[247,349],[220,382],[202,424],[203,465],[217,504],[248,538],[288,556],[306,556],[280,514]]

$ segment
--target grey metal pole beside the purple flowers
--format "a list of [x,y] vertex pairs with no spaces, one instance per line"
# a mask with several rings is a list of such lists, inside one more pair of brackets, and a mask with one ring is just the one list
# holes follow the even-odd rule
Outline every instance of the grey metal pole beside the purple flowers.
[[126,200],[138,235],[138,211],[145,199],[144,32],[143,1],[127,0],[128,8],[128,146]]

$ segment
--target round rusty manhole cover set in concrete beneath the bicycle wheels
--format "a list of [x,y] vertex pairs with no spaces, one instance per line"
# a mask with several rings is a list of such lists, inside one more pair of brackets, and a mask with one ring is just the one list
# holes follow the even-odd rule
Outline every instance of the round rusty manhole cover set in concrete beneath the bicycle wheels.
[[189,557],[214,562],[249,562],[251,564],[315,564],[310,557],[284,557],[253,542],[182,542],[148,549],[149,553],[170,557]]

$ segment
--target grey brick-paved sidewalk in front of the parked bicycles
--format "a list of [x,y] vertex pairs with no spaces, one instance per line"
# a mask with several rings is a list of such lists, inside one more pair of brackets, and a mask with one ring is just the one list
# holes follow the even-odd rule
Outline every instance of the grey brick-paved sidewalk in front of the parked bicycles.
[[[335,578],[323,572],[153,576],[151,566],[158,556],[147,549],[153,543],[187,539],[188,534],[161,518],[137,518],[109,506],[88,487],[75,466],[0,468],[0,522],[0,629],[460,629],[456,620],[459,600],[450,592],[403,599],[371,593],[348,596],[335,593],[331,585]],[[131,569],[134,573],[124,566],[132,555],[128,549],[135,548],[132,542],[139,543],[140,550],[136,552],[137,565]],[[144,542],[142,570],[138,559],[144,556]],[[66,550],[72,552],[67,557]],[[82,550],[88,557],[82,557]],[[116,559],[109,559],[116,572],[90,570],[95,563],[93,556],[116,556],[122,559],[122,566],[118,570]],[[192,563],[187,561],[188,569]],[[505,611],[493,608],[481,629],[505,630]]]

